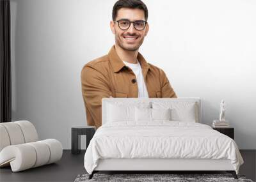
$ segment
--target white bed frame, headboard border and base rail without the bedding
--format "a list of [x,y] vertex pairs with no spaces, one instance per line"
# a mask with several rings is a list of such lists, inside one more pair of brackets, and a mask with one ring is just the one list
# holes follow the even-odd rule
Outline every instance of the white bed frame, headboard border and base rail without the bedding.
[[[200,98],[103,98],[102,99],[102,124],[104,124],[108,103],[113,102],[152,102],[152,101],[168,101],[168,102],[196,102],[198,122],[201,123],[202,107]],[[236,171],[230,160],[213,160],[213,159],[163,159],[163,158],[107,158],[100,159],[97,167],[95,167],[89,179],[92,179],[93,174],[102,171],[118,171],[118,172],[140,172],[147,173],[170,173],[170,172],[189,172],[189,171],[226,171],[232,174],[237,179]]]

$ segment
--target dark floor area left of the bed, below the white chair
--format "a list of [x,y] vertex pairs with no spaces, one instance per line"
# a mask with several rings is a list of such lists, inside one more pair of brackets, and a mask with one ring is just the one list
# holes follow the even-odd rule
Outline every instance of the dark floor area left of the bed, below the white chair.
[[12,172],[11,167],[0,168],[0,181],[74,181],[78,174],[86,173],[83,162],[84,151],[72,155],[71,150],[63,150],[56,163],[20,172]]

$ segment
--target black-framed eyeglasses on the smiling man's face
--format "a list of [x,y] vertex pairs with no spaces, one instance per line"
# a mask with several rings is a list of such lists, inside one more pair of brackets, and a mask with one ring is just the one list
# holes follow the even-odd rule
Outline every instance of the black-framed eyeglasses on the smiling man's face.
[[145,29],[145,26],[147,25],[147,22],[144,20],[136,20],[134,22],[131,22],[130,20],[127,19],[121,19],[121,20],[116,20],[114,22],[118,23],[118,27],[122,30],[127,30],[131,26],[131,23],[133,24],[134,28],[138,31],[141,31]]

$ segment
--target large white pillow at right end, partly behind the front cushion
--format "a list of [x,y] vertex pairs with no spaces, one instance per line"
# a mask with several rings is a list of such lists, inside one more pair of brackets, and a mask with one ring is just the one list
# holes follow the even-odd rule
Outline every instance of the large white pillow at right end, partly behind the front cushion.
[[152,102],[154,109],[171,109],[172,121],[199,122],[197,102]]

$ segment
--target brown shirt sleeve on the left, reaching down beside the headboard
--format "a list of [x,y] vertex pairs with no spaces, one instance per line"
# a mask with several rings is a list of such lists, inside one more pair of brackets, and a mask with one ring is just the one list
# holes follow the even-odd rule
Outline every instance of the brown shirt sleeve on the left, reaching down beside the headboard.
[[102,125],[102,98],[111,96],[108,78],[95,66],[86,64],[81,71],[81,84],[87,124],[99,128]]

